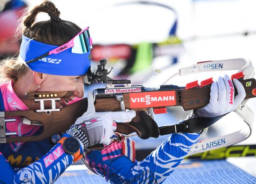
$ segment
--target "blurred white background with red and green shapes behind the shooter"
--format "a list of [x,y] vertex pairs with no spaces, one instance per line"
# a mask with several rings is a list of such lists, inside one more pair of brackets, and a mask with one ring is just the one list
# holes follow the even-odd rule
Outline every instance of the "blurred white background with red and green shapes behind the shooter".
[[[0,57],[19,52],[20,41],[13,38],[19,20],[16,7],[5,7],[0,0]],[[93,66],[108,59],[115,79],[131,79],[134,85],[158,86],[185,66],[199,61],[246,58],[256,67],[256,1],[255,0],[52,0],[60,10],[60,18],[84,28],[90,27],[94,49]],[[41,0],[24,0],[19,8],[35,6]],[[18,1],[16,2],[18,4]],[[5,8],[5,9],[4,9]],[[40,14],[37,21],[49,20]],[[14,25],[14,26],[13,26]],[[11,33],[11,34],[8,34]],[[155,72],[155,70],[162,72]],[[176,77],[168,82],[184,86],[194,80],[208,79],[237,71],[207,72]],[[90,85],[86,91],[104,87]],[[249,107],[256,113],[256,99]],[[189,112],[181,107],[168,108],[167,114],[155,115],[159,126],[175,124]],[[224,135],[243,128],[243,120],[230,113],[202,137]],[[133,138],[137,159],[155,149],[168,136],[149,140]],[[256,144],[256,131],[242,145]],[[228,161],[256,176],[255,157],[228,158]]]

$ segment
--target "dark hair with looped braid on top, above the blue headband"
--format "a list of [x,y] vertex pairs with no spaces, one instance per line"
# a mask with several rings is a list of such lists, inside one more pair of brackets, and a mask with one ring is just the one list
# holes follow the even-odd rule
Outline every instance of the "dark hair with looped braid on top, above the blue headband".
[[[34,24],[35,17],[40,12],[48,13],[50,20]],[[73,22],[61,20],[60,14],[53,2],[45,0],[23,18],[23,35],[50,45],[61,46],[67,43],[81,31],[81,28]]]

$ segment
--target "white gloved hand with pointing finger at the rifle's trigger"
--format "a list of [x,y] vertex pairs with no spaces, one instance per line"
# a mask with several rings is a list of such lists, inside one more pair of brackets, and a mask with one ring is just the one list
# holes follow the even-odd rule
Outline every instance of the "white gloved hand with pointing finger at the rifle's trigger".
[[127,112],[95,112],[93,93],[89,92],[88,109],[77,118],[74,125],[67,131],[68,134],[81,140],[84,148],[96,144],[109,145],[116,130],[115,121],[128,122],[135,117],[135,111]]

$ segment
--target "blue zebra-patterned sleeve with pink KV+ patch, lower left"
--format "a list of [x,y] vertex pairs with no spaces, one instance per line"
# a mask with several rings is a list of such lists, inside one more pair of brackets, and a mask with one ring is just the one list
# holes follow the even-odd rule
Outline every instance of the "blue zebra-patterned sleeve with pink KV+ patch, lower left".
[[0,183],[51,184],[73,163],[74,156],[63,151],[58,143],[36,162],[14,171],[3,155],[0,155]]

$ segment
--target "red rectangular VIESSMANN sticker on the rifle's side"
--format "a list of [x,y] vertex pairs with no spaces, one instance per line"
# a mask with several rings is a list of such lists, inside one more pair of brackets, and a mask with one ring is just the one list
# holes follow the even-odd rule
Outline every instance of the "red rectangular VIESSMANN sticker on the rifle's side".
[[130,93],[130,108],[176,105],[175,91]]

